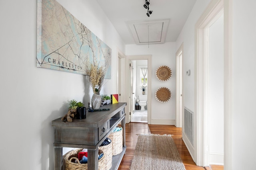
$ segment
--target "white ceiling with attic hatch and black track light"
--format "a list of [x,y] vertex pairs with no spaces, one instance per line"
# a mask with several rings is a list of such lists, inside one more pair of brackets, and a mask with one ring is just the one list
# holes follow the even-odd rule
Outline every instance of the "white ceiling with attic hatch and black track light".
[[176,41],[196,0],[96,0],[125,44]]

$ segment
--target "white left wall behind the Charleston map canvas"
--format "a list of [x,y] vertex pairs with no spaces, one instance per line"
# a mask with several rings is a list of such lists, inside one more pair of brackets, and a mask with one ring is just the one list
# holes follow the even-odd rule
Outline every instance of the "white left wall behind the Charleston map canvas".
[[[95,1],[58,2],[112,49],[113,78],[103,90],[116,93],[116,47],[125,53],[120,36]],[[66,114],[68,100],[86,103],[92,94],[85,76],[36,68],[36,12],[36,1],[0,1],[3,170],[53,170],[51,121]]]

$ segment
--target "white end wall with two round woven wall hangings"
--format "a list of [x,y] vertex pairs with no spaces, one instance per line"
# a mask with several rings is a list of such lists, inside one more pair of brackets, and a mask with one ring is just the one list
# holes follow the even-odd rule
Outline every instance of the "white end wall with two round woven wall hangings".
[[[175,42],[149,45],[126,45],[126,55],[152,55],[152,120],[151,124],[175,124],[176,111],[176,56]],[[161,82],[156,78],[159,66],[169,66],[172,69],[172,78]],[[160,103],[155,98],[158,88],[166,87],[172,92],[172,99],[167,103]]]

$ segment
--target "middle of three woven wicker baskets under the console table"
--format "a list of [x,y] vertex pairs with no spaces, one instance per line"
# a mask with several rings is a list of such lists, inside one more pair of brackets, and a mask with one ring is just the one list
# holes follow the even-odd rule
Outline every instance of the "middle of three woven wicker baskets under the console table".
[[112,166],[112,141],[110,144],[99,147],[99,150],[104,152],[104,164],[106,170],[110,170]]

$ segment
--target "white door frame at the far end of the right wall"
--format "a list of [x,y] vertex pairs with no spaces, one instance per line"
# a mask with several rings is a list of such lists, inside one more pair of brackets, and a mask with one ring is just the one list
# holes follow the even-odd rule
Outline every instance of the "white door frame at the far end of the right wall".
[[[180,92],[180,86],[183,86],[182,83],[180,84],[180,76],[182,77],[181,82],[183,82],[183,62],[180,63],[180,55],[183,58],[183,43],[180,45],[180,48],[176,52],[176,127],[182,127],[182,120],[184,115],[184,106],[183,106],[183,96],[180,101],[180,96],[183,94],[183,87],[181,87],[182,92]],[[180,65],[181,65],[181,72],[180,72]],[[181,109],[180,109],[180,104]]]

